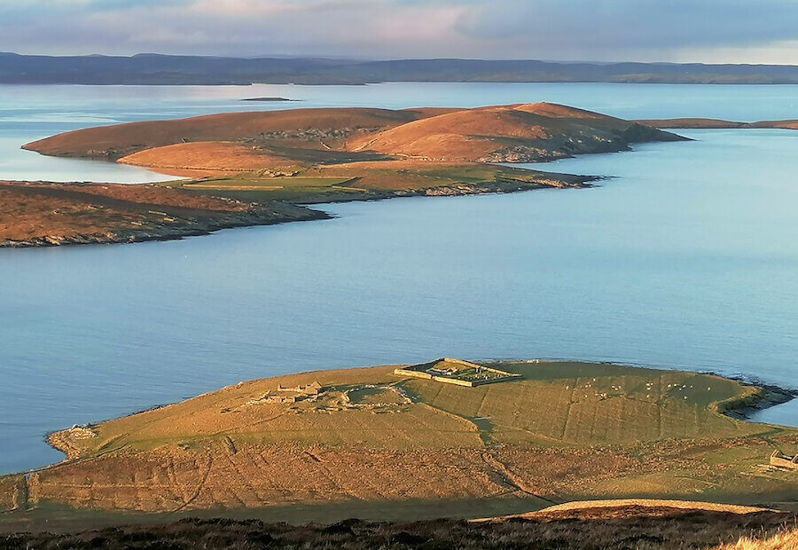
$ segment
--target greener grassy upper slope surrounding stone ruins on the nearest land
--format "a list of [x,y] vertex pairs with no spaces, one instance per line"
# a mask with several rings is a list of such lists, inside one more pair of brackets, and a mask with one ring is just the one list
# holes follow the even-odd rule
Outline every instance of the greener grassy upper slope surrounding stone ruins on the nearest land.
[[[771,432],[717,414],[710,405],[747,392],[747,387],[704,374],[654,371],[615,365],[507,364],[522,374],[519,381],[463,389],[422,379],[401,381],[415,403],[400,413],[362,411],[333,414],[286,414],[283,404],[243,406],[280,383],[319,381],[346,389],[364,383],[394,383],[391,367],[291,375],[246,382],[218,392],[100,424],[97,437],[85,440],[86,454],[112,448],[152,449],[169,441],[225,436],[265,438],[316,444],[350,444],[358,437],[376,447],[456,447],[479,445],[468,419],[487,417],[488,435],[496,443],[546,444],[560,447],[635,444],[674,438],[739,437]],[[299,405],[293,405],[299,407]],[[332,406],[332,405],[331,405]],[[223,413],[225,409],[236,413]],[[280,414],[269,425],[264,417]],[[384,417],[384,418],[382,418]],[[428,422],[425,425],[423,421]],[[408,441],[398,433],[411,429]],[[427,443],[425,432],[434,433]],[[443,438],[440,433],[445,434]]]

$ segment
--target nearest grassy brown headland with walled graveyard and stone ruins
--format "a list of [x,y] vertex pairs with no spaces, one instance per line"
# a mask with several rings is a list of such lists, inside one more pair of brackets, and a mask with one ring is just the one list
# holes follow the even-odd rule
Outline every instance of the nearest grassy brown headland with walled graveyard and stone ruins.
[[[794,515],[761,508],[798,510],[798,471],[771,466],[771,454],[798,452],[798,430],[725,414],[769,397],[708,374],[445,358],[241,382],[52,434],[65,461],[0,477],[0,529],[187,515],[408,522],[542,509],[480,529],[567,517],[695,521],[697,510],[719,525],[774,528]],[[596,499],[610,501],[558,506]],[[749,513],[763,523],[734,519]],[[702,536],[705,546],[693,547],[724,540]]]

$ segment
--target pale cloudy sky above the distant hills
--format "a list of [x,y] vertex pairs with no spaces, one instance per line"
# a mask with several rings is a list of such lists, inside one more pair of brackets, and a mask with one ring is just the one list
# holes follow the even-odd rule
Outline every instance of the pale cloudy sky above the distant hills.
[[0,0],[0,51],[798,65],[798,0]]

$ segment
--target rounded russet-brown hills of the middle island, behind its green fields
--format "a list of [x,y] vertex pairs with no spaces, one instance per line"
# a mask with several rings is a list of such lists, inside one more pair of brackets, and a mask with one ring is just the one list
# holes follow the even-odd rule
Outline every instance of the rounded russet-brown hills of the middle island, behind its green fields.
[[[155,168],[218,170],[269,167],[279,159],[307,165],[366,161],[373,156],[369,152],[426,161],[540,161],[669,139],[677,137],[582,109],[540,103],[215,114],[76,130],[26,148],[51,155],[123,158]],[[246,148],[184,146],[227,141],[246,143]],[[163,149],[169,145],[177,146]],[[253,146],[261,152],[251,154]]]

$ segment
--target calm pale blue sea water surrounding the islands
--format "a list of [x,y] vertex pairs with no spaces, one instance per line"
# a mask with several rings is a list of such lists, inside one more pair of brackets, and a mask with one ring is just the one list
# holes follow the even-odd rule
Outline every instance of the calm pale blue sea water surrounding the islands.
[[[0,178],[150,179],[17,146],[98,123],[286,106],[239,102],[267,95],[798,118],[790,86],[0,86]],[[0,472],[59,460],[51,430],[308,369],[577,358],[798,388],[798,132],[683,134],[696,141],[545,165],[614,176],[590,190],[351,203],[323,207],[328,221],[180,241],[0,250]],[[798,425],[798,407],[758,420]]]

